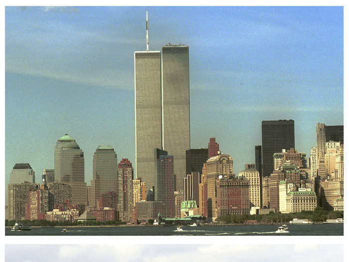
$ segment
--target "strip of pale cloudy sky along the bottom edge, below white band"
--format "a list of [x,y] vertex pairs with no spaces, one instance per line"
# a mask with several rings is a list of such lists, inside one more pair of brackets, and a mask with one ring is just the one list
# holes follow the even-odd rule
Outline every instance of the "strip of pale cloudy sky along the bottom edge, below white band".
[[[21,252],[18,252],[20,250]],[[6,262],[341,262],[343,245],[5,245]]]

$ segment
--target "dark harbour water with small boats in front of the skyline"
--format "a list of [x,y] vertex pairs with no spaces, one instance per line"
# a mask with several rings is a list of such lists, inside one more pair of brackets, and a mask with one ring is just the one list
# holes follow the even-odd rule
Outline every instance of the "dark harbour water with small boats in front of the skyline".
[[280,225],[236,225],[186,227],[74,227],[31,228],[30,231],[5,229],[6,236],[343,236],[343,224],[288,225],[276,233]]

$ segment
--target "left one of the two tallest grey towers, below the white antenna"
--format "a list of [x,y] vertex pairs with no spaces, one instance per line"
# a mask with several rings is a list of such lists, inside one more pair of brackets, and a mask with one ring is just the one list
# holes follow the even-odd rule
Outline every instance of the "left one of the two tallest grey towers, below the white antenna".
[[155,185],[154,148],[162,148],[160,51],[135,52],[136,177]]

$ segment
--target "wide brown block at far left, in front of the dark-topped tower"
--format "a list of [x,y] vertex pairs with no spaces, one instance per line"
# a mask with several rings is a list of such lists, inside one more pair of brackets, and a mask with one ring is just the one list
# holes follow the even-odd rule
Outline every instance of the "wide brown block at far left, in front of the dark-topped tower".
[[8,184],[8,220],[24,220],[25,204],[28,203],[29,190],[36,190],[37,186],[28,182]]

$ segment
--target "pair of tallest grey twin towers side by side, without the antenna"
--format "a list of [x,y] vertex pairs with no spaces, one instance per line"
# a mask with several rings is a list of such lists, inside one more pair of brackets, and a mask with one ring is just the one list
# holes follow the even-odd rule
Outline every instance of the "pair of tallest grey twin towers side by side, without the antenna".
[[154,149],[174,156],[176,190],[183,188],[190,149],[189,48],[135,52],[136,176],[155,185]]

